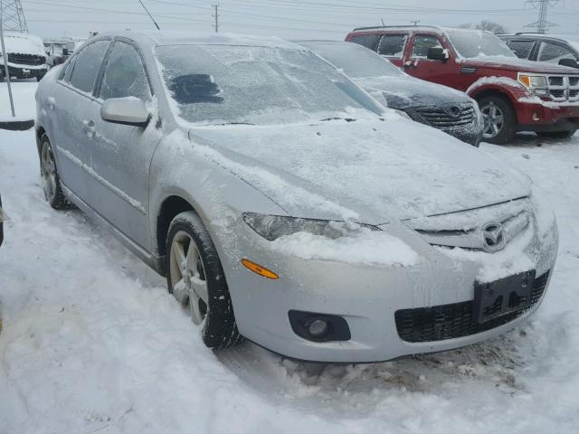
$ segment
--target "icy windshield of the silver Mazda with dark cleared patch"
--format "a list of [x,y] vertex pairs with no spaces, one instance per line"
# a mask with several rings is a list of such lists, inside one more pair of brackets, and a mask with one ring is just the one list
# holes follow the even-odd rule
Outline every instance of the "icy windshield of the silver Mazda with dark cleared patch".
[[187,122],[280,124],[383,112],[346,76],[305,50],[163,45],[156,55],[176,116]]

